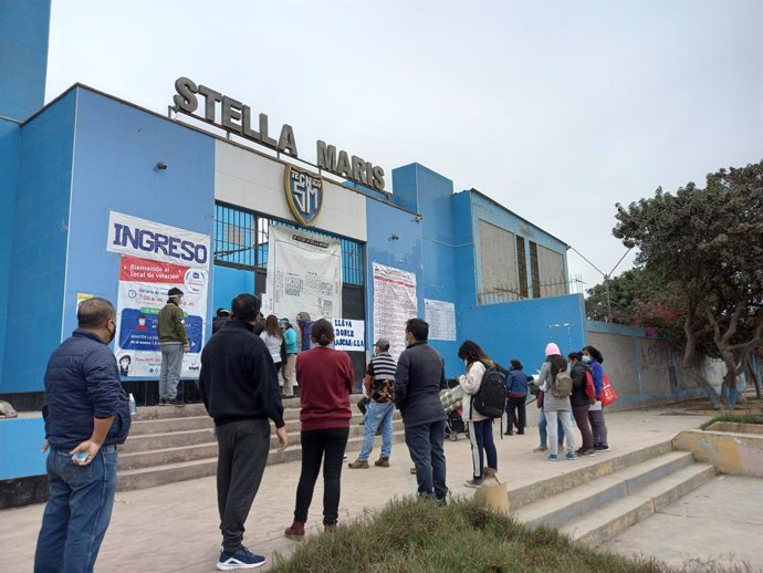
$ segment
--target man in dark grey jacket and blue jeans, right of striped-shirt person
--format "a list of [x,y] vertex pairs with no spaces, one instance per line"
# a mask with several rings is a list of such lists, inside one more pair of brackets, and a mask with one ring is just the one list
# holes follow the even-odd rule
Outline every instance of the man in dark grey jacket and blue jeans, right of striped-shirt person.
[[406,323],[408,347],[395,373],[395,405],[403,415],[406,445],[416,465],[419,496],[446,502],[446,459],[442,449],[446,411],[440,402],[445,388],[442,356],[427,344],[429,324],[421,319]]

